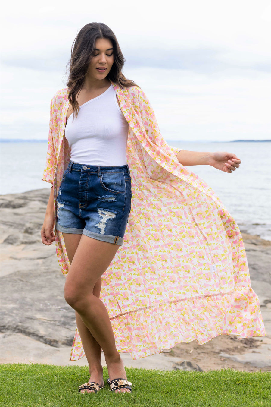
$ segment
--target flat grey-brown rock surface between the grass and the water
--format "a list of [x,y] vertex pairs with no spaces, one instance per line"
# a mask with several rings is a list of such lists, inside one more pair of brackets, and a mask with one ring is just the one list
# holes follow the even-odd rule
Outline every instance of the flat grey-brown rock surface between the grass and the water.
[[[41,243],[50,190],[0,195],[1,321],[0,363],[87,365],[84,357],[69,361],[76,328],[74,310],[64,300],[65,277],[54,243]],[[171,370],[191,361],[203,370],[232,367],[271,371],[271,242],[242,232],[251,286],[260,300],[266,337],[237,339],[220,335],[207,344],[180,343],[160,354],[133,360],[121,353],[126,366]],[[102,364],[105,365],[102,354]]]

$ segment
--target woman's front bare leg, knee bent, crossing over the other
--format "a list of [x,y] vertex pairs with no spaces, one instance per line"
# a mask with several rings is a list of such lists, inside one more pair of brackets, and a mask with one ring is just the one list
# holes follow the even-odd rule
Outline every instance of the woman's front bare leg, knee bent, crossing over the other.
[[[127,377],[124,363],[116,348],[107,309],[103,302],[93,295],[93,289],[110,265],[118,248],[119,245],[82,235],[65,282],[65,300],[77,311],[82,322],[103,349],[110,380]],[[93,377],[91,381],[99,383]],[[117,392],[130,390],[119,389]]]

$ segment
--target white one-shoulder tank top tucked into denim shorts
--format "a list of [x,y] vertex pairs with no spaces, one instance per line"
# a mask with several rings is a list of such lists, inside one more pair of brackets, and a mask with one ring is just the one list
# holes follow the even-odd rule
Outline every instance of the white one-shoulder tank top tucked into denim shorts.
[[65,127],[71,160],[88,165],[125,165],[129,124],[117,103],[113,85],[72,113]]

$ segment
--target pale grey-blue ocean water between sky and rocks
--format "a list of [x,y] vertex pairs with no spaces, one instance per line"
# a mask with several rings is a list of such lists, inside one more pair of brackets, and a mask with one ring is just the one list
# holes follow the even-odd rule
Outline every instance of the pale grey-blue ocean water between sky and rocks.
[[[241,230],[271,240],[271,142],[167,142],[190,151],[236,154],[242,163],[231,174],[205,165],[188,168],[210,185]],[[46,153],[47,142],[1,142],[0,194],[50,188],[41,180]]]

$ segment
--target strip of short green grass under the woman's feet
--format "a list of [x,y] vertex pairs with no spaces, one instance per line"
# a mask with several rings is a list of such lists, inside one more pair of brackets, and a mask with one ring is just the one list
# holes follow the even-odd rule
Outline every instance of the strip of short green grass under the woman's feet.
[[[271,374],[221,369],[208,372],[126,367],[132,393],[113,394],[109,385],[94,394],[77,386],[89,380],[87,367],[41,363],[0,365],[1,406],[271,406]],[[104,367],[104,383],[108,378]]]

